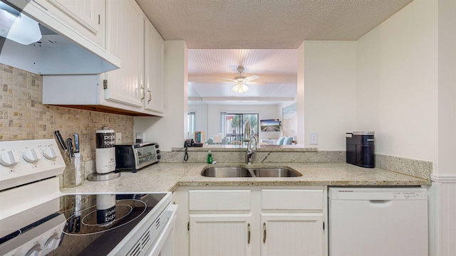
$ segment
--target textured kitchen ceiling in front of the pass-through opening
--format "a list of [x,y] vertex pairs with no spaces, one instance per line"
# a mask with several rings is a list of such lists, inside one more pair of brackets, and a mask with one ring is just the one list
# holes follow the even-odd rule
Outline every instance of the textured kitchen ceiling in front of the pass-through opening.
[[413,0],[136,0],[165,40],[190,49],[296,49],[357,40]]

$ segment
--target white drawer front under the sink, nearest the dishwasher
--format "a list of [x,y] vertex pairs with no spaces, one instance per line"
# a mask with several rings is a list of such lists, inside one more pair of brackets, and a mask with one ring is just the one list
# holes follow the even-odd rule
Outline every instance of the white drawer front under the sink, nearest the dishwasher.
[[263,189],[261,209],[322,210],[323,191],[320,189]]

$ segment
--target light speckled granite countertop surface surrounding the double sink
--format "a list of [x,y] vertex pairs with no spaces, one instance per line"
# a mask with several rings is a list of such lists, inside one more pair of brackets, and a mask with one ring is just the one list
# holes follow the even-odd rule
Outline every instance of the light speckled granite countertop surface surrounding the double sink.
[[[177,186],[420,186],[429,180],[385,169],[368,169],[346,163],[278,163],[254,166],[286,166],[302,174],[292,178],[210,178],[201,176],[209,164],[158,163],[137,173],[123,171],[110,181],[84,181],[63,193],[161,192]],[[229,164],[217,164],[227,166]],[[237,164],[242,165],[242,164]]]

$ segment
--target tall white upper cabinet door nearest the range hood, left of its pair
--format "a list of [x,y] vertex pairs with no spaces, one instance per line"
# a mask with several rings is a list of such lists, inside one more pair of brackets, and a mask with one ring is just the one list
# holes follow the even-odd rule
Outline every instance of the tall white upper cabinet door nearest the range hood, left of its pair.
[[106,48],[120,58],[118,70],[105,73],[105,100],[142,109],[141,85],[144,50],[144,18],[135,1],[106,1]]

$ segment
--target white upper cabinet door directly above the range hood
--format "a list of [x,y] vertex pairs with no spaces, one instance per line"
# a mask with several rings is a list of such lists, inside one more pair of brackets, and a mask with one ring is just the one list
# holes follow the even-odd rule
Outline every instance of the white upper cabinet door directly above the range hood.
[[[99,46],[105,47],[105,1],[47,0],[63,14],[76,21],[76,29]],[[66,17],[60,16],[63,20]],[[69,21],[71,23],[71,21]]]

